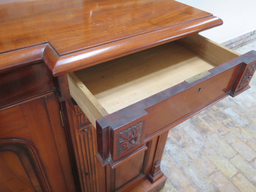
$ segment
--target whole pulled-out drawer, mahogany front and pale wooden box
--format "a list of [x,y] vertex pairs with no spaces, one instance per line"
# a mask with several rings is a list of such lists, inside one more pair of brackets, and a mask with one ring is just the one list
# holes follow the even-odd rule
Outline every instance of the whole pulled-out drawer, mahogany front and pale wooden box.
[[239,56],[198,34],[70,73],[70,94],[112,168],[204,108],[249,88],[256,51]]

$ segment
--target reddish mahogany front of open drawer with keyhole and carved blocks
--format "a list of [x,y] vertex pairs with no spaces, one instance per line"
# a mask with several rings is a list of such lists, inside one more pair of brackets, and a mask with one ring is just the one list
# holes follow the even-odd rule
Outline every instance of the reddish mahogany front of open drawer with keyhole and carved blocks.
[[[240,89],[237,87],[244,79],[252,77],[253,72],[249,74],[247,68],[251,71],[255,67],[255,62],[256,52],[248,52],[209,70],[210,74],[199,80],[191,83],[182,82],[97,120],[97,155],[100,162],[108,163],[112,167],[121,164],[126,161],[125,158],[142,152],[143,148],[138,147],[143,147],[143,142],[158,136],[220,99],[247,90],[249,81]],[[145,137],[143,134],[135,134],[139,122],[143,124],[142,133],[146,132]],[[107,134],[108,132],[111,134]],[[127,145],[130,145],[132,139],[138,140],[138,146],[134,145],[134,148],[129,149],[129,156],[120,155],[122,132],[127,132],[129,136],[126,138]],[[107,141],[109,144],[106,144]]]

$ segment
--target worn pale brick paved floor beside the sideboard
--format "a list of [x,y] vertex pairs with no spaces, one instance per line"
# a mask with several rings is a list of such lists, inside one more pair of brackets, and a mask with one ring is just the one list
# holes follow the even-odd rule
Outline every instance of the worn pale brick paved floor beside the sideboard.
[[256,192],[256,75],[250,86],[170,130],[161,192]]

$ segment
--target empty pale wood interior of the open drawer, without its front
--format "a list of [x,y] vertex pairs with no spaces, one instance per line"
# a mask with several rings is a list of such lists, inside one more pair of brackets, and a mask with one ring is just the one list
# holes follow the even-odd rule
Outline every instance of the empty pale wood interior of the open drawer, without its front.
[[[100,108],[100,113],[105,116],[238,55],[196,34],[70,75],[80,81],[80,88],[81,85],[86,88],[85,94],[89,92],[86,97],[96,100],[96,108]],[[77,94],[71,89],[76,100]]]

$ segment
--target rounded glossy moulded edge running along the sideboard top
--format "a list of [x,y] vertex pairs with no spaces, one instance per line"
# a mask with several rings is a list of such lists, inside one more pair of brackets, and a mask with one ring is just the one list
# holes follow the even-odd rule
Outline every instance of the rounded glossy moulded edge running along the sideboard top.
[[222,23],[220,18],[210,16],[65,56],[60,56],[49,43],[42,43],[0,54],[0,72],[44,62],[53,76],[59,76],[178,40]]

